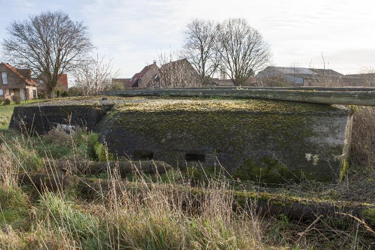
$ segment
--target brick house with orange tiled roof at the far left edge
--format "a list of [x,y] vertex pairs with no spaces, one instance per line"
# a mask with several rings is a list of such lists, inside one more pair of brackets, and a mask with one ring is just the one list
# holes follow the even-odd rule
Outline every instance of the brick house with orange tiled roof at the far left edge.
[[21,100],[38,98],[38,84],[31,78],[30,69],[19,69],[8,63],[0,63],[0,97],[13,100],[15,95]]

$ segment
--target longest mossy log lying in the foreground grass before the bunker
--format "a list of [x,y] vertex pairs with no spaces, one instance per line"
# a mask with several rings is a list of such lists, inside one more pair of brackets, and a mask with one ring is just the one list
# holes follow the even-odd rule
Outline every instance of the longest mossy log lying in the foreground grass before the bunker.
[[[112,181],[113,180],[111,179],[80,178],[77,176],[61,174],[19,174],[19,183],[21,185],[35,187],[41,192],[46,190],[58,191],[69,189],[71,185],[75,185],[75,187],[85,195],[93,195],[93,197],[95,197],[95,195],[102,193],[103,190],[106,190],[106,188],[111,187],[113,183],[116,183],[121,187],[120,190],[132,190],[129,194],[138,195],[144,193],[141,188],[146,188],[148,191],[152,190],[152,188],[157,188],[160,192],[165,192],[166,195],[170,195],[171,192],[176,192],[176,195],[185,194],[183,197],[187,199],[187,202],[197,207],[200,206],[200,204],[202,204],[211,193],[209,189],[181,185],[164,184],[159,186],[159,184],[156,183],[146,184],[143,182],[134,185],[132,182],[127,181]],[[232,198],[232,207],[236,211],[255,209],[262,214],[277,216],[283,213],[288,217],[295,219],[315,218],[320,214],[326,216],[337,216],[338,214],[336,212],[340,212],[363,218],[369,223],[374,223],[374,218],[371,216],[375,210],[373,204],[320,199],[315,200],[313,198],[301,198],[284,194],[255,191],[217,191],[224,192],[225,195]],[[118,194],[121,193],[118,192]]]

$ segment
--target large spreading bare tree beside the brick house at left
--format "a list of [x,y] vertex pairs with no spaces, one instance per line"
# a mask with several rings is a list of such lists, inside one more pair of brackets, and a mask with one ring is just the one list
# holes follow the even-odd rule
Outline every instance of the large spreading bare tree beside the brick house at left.
[[2,42],[5,58],[29,67],[54,96],[59,76],[75,68],[81,56],[92,48],[88,29],[62,11],[42,12],[24,21],[13,21]]

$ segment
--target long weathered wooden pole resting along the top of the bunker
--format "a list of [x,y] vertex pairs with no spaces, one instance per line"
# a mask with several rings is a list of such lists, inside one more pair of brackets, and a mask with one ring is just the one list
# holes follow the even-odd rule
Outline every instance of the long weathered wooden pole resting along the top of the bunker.
[[[247,88],[247,89],[222,89],[222,88],[186,88],[186,89],[138,89],[138,90],[117,90],[106,91],[104,95],[114,96],[223,96],[244,99],[266,99],[278,101],[292,101],[302,103],[316,104],[345,104],[345,105],[364,105],[375,106],[375,88],[366,88],[366,90],[352,91],[353,88],[332,88],[309,89],[304,90],[300,87],[294,88]],[[328,90],[326,90],[328,89]],[[336,89],[336,88],[334,88]],[[344,90],[349,89],[349,91]],[[360,88],[362,89],[362,88]],[[354,90],[357,90],[355,88]]]

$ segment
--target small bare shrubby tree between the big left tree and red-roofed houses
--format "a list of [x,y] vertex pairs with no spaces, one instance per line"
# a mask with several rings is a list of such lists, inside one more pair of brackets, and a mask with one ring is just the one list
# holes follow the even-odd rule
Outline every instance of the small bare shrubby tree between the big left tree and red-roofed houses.
[[112,78],[119,76],[120,70],[113,70],[112,60],[105,57],[89,58],[79,64],[73,75],[76,87],[83,95],[98,95],[100,92],[112,89]]

